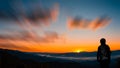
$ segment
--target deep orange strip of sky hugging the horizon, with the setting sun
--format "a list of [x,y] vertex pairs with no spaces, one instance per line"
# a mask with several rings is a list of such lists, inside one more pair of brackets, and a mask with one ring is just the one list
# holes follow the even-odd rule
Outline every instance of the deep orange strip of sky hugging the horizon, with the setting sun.
[[[18,43],[14,43],[15,45],[17,45]],[[80,45],[80,44],[34,44],[34,43],[25,43],[25,42],[19,42],[19,44],[22,45],[22,47],[24,47],[24,49],[22,48],[5,48],[5,49],[12,49],[12,50],[20,50],[20,51],[24,51],[24,52],[48,52],[48,53],[67,53],[67,52],[76,52],[76,53],[80,53],[83,51],[86,52],[92,52],[92,51],[97,51],[99,44],[94,44],[94,45]],[[21,45],[17,45],[17,46],[21,46]],[[110,49],[113,50],[120,50],[119,44],[109,44]],[[0,48],[2,48],[0,46]]]

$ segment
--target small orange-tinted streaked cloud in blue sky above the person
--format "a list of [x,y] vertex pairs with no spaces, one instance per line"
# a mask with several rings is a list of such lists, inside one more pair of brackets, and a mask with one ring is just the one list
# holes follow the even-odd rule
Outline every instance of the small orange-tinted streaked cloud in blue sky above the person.
[[96,19],[89,20],[80,17],[69,17],[67,20],[67,26],[69,29],[92,29],[97,30],[107,26],[111,22],[111,18],[108,16],[97,17]]

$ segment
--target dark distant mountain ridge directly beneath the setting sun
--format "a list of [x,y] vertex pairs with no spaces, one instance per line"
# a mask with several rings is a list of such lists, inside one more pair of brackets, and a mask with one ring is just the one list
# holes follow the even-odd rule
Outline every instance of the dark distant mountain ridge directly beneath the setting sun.
[[[44,55],[51,55],[51,56],[66,56],[66,57],[95,57],[97,52],[69,52],[69,53],[40,53],[37,54],[44,54]],[[112,51],[111,56],[120,55],[120,50]]]

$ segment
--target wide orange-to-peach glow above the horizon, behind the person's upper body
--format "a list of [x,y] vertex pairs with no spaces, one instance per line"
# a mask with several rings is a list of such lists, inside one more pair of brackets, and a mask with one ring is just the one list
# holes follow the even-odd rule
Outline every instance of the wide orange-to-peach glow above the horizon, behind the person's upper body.
[[[91,40],[92,41],[92,40]],[[83,41],[81,44],[78,42],[67,42],[67,43],[61,43],[61,42],[54,42],[54,43],[41,43],[41,42],[26,42],[26,41],[11,41],[9,40],[11,44],[13,44],[12,47],[2,47],[0,45],[0,48],[5,49],[12,49],[12,50],[20,50],[24,52],[49,52],[49,53],[67,53],[67,52],[92,52],[97,51],[98,46],[100,45],[99,42],[91,43],[88,41],[85,43]],[[110,49],[113,50],[120,50],[120,43],[118,41],[107,41],[107,44],[110,46]],[[8,44],[9,45],[9,44]],[[16,48],[17,46],[17,48]]]

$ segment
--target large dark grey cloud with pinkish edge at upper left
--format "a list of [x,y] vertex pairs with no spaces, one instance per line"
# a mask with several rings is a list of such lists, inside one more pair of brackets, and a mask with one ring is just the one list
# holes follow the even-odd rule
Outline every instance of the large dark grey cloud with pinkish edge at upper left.
[[27,5],[20,1],[2,1],[0,4],[0,20],[13,21],[17,24],[30,23],[32,26],[49,25],[57,20],[58,4],[44,7],[38,1],[28,1]]

